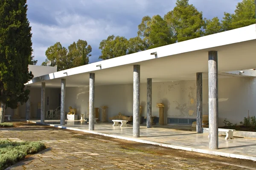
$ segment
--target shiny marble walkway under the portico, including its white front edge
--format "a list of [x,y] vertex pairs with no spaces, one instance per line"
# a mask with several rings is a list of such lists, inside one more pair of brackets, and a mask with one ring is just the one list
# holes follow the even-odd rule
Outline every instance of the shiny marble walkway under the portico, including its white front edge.
[[[58,121],[46,121],[46,124],[61,127]],[[64,128],[71,130],[80,130],[134,142],[256,161],[256,139],[254,138],[235,137],[235,139],[225,140],[225,136],[219,136],[219,149],[208,150],[208,133],[198,134],[195,131],[176,130],[171,127],[170,125],[153,128],[140,126],[140,138],[134,138],[132,137],[131,125],[121,128],[119,126],[113,127],[111,124],[95,124],[94,131],[88,130],[88,124],[85,121],[66,121],[64,126]]]

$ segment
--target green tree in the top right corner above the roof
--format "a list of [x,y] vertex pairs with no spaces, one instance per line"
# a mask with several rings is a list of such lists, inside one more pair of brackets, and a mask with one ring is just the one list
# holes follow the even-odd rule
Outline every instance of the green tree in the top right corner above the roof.
[[243,0],[238,3],[235,13],[224,13],[222,20],[224,31],[249,26],[255,22],[255,0]]

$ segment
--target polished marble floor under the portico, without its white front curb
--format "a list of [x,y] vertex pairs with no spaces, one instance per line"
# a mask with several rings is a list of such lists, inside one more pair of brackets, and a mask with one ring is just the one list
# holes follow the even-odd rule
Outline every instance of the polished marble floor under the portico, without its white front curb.
[[[33,121],[33,122],[40,122]],[[60,125],[59,121],[46,120],[48,125]],[[71,127],[77,130],[88,130],[86,121],[66,121],[65,127]],[[208,133],[196,133],[195,129],[189,126],[157,126],[146,128],[145,125],[140,126],[140,138],[133,137],[132,125],[127,127],[115,126],[110,123],[95,124],[93,132],[104,133],[108,135],[122,136],[131,139],[140,139],[149,142],[157,142],[161,144],[172,144],[180,147],[190,147],[194,149],[208,150]],[[222,153],[237,154],[256,158],[256,139],[235,137],[234,139],[225,139],[225,136],[219,136],[219,149]]]

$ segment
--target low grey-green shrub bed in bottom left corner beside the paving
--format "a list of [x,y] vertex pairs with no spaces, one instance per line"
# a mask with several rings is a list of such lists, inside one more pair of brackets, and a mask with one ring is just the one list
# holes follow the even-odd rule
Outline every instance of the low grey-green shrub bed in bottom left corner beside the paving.
[[11,142],[0,140],[0,170],[15,164],[28,154],[38,153],[46,146],[42,142]]

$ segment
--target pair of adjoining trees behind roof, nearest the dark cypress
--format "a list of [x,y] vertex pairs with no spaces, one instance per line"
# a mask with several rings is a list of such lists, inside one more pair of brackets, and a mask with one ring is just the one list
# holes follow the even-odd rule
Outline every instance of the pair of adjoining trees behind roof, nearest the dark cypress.
[[45,55],[47,59],[42,65],[47,65],[51,61],[51,66],[57,65],[57,71],[78,67],[89,63],[92,47],[85,40],[78,40],[68,46],[63,47],[60,42],[47,48]]

